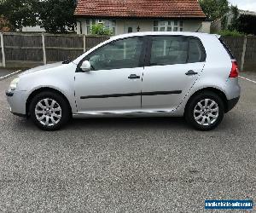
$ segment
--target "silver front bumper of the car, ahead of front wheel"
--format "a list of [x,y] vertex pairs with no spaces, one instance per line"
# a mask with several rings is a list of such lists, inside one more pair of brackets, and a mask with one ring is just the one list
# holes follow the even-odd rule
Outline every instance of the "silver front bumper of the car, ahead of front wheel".
[[8,90],[5,92],[9,102],[10,112],[19,116],[26,116],[26,91]]

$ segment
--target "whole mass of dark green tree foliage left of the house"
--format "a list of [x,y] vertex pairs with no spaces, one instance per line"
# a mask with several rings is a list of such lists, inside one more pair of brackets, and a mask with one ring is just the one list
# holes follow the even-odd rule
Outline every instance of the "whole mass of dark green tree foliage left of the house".
[[74,31],[76,3],[76,0],[0,0],[0,14],[13,31],[39,25],[46,32],[65,33]]

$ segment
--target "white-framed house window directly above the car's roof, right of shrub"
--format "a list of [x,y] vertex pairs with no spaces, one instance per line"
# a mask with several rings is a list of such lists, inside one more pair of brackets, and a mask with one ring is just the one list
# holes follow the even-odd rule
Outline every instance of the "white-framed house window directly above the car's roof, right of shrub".
[[182,32],[183,20],[154,20],[154,32]]

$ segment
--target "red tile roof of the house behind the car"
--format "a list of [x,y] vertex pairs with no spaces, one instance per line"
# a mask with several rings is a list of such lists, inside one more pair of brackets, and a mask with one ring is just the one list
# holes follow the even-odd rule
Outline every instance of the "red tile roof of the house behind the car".
[[77,16],[205,18],[197,0],[79,0]]

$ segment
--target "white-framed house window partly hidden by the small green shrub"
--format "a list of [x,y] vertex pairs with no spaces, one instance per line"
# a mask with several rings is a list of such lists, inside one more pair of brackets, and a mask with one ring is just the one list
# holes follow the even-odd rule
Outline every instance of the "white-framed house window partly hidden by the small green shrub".
[[86,20],[86,32],[90,34],[90,29],[95,24],[102,24],[106,29],[109,29],[113,35],[116,33],[116,21],[115,20],[101,20],[90,19]]

